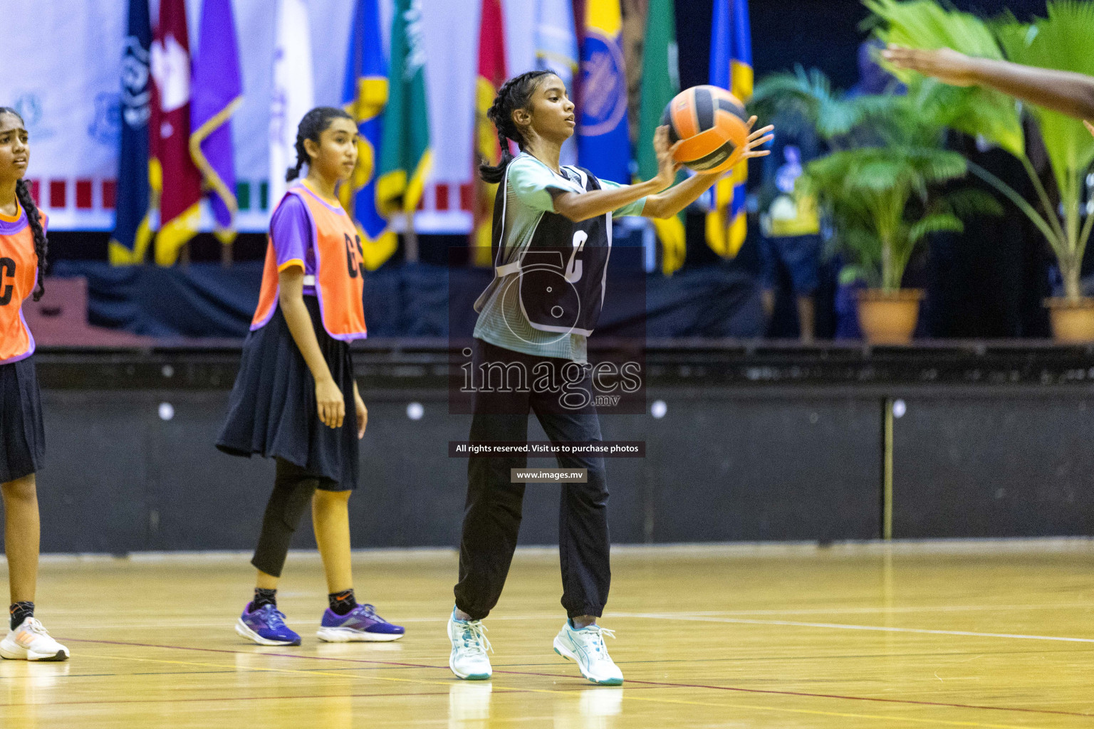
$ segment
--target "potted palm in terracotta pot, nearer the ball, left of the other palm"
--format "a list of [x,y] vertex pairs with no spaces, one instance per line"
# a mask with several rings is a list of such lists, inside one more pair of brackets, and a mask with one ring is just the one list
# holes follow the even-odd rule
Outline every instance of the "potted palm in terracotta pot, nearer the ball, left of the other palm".
[[942,149],[942,105],[932,90],[848,98],[819,71],[799,68],[761,81],[752,105],[811,120],[834,150],[810,163],[794,192],[815,197],[833,222],[833,248],[848,261],[841,281],[868,286],[859,292],[866,340],[909,342],[923,292],[901,284],[916,248],[931,233],[962,231],[963,215],[999,211],[978,190],[942,193],[967,163]]

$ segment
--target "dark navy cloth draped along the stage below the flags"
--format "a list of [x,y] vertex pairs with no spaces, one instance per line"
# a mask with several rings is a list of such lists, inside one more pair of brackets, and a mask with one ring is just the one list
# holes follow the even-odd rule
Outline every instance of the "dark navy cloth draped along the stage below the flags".
[[[597,332],[641,337],[758,337],[759,290],[728,266],[645,275],[635,248],[612,254]],[[258,302],[260,262],[231,268],[193,263],[115,268],[100,261],[57,261],[51,275],[85,277],[89,320],[149,337],[242,338]],[[382,268],[365,277],[370,337],[469,336],[472,304],[490,283],[489,270],[428,263]]]

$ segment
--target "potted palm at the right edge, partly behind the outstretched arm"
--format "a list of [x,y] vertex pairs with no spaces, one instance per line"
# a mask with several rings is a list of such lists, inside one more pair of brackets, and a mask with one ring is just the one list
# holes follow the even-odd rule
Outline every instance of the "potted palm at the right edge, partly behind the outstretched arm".
[[[1026,66],[1094,75],[1094,3],[1074,0],[1048,2],[1048,16],[1032,24],[1013,15],[989,24],[968,13],[945,10],[933,0],[863,0],[877,22],[875,34],[885,43],[912,48],[954,48],[969,56],[1002,59]],[[895,71],[915,85],[931,85],[913,72]],[[1080,275],[1094,215],[1084,201],[1084,183],[1094,162],[1094,138],[1082,122],[1035,105],[1023,108],[999,92],[981,87],[942,86],[943,121],[979,136],[1013,154],[1026,169],[1037,195],[1031,204],[1013,187],[976,165],[970,171],[1017,205],[1045,236],[1060,269],[1063,295],[1046,302],[1056,338],[1094,341],[1094,298],[1083,296]],[[1059,193],[1054,204],[1027,153],[1022,114],[1037,122]],[[1083,220],[1085,216],[1085,220]]]

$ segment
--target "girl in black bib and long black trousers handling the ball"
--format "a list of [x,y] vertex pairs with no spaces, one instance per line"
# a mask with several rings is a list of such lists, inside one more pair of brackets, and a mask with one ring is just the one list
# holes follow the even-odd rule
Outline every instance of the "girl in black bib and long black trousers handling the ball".
[[[610,246],[610,219],[619,215],[668,217],[694,202],[720,174],[697,175],[671,190],[677,164],[667,130],[657,131],[657,175],[636,185],[600,180],[580,167],[560,166],[559,150],[573,134],[574,106],[561,79],[531,71],[507,81],[488,111],[498,129],[501,163],[482,166],[488,183],[499,183],[494,203],[496,278],[476,302],[473,372],[500,367],[532,376],[544,367],[581,367],[584,378],[567,378],[565,392],[475,391],[473,442],[523,442],[534,410],[547,436],[559,442],[598,442],[601,427],[592,404],[592,377],[585,339],[595,327],[604,294]],[[748,122],[748,128],[755,118]],[[771,140],[766,127],[748,136],[741,160],[767,152],[755,148]],[[521,153],[509,154],[509,140]],[[534,268],[531,261],[539,261]],[[551,268],[551,260],[557,270]],[[522,283],[522,279],[524,282]],[[587,398],[574,408],[575,388]],[[516,388],[521,390],[522,388]],[[511,469],[524,457],[472,458],[459,544],[459,581],[449,619],[449,666],[461,679],[488,679],[491,667],[482,619],[501,595],[521,525],[524,484],[511,483]],[[559,557],[562,607],[568,620],[555,638],[560,656],[574,660],[593,683],[622,683],[596,624],[608,597],[608,525],[604,460],[562,457],[563,468],[586,469],[586,483],[562,486]]]

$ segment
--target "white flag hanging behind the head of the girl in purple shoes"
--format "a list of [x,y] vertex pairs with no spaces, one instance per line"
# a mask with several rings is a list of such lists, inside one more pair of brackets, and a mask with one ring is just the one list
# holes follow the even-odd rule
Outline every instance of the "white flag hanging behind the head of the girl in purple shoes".
[[307,5],[279,0],[270,103],[270,213],[284,197],[284,174],[296,166],[296,127],[313,106],[312,42]]

